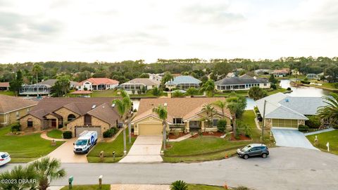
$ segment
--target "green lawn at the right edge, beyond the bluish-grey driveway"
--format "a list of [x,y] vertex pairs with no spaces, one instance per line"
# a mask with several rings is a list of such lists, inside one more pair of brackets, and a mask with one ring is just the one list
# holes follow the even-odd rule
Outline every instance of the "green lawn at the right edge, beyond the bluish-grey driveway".
[[[315,146],[315,136],[318,138],[318,146]],[[306,138],[313,144],[313,146],[320,148],[322,151],[327,151],[326,144],[330,143],[330,152],[338,154],[338,130],[332,132],[323,132],[320,134],[309,135]]]

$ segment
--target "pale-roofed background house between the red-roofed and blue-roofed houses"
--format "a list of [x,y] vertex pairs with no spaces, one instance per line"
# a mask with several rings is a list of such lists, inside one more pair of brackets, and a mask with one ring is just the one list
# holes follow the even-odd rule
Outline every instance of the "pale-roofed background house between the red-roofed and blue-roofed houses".
[[136,78],[133,80],[130,80],[128,82],[125,82],[120,85],[121,89],[124,89],[128,93],[130,91],[138,91],[142,88],[145,88],[146,90],[154,89],[155,87],[160,87],[161,82],[157,80],[150,80],[145,78]]

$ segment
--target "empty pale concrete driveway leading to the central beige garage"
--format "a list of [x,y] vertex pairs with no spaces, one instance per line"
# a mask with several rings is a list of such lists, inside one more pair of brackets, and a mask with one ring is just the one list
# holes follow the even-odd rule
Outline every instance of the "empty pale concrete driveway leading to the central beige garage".
[[120,163],[160,163],[162,135],[139,136]]

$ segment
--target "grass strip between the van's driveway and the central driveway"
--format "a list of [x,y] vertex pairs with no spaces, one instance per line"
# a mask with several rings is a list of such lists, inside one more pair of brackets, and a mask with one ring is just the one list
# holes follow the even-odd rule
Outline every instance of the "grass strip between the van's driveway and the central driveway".
[[[134,143],[136,137],[132,137],[132,144]],[[127,135],[127,151],[132,147],[132,144],[128,143]],[[87,160],[89,163],[99,163],[101,162],[99,153],[104,151],[104,163],[115,163],[123,158],[123,132],[121,132],[115,141],[111,142],[99,142],[96,144],[94,149],[90,151],[87,155]],[[113,151],[115,151],[115,161],[113,160]]]

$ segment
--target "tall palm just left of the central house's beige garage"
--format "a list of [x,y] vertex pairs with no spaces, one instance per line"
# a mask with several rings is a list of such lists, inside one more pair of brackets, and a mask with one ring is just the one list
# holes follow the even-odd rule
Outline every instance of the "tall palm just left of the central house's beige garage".
[[[120,90],[120,94],[122,96],[122,100],[120,99],[115,99],[113,103],[115,104],[116,108],[118,108],[118,113],[120,114],[120,117],[122,118],[123,121],[123,153],[126,155],[127,154],[127,144],[126,144],[126,137],[125,137],[125,126],[128,126],[129,129],[129,143],[132,143],[131,135],[132,135],[132,130],[130,126],[130,108],[132,108],[132,101],[130,100],[129,95],[127,94],[126,91]],[[127,123],[126,123],[126,119]]]

